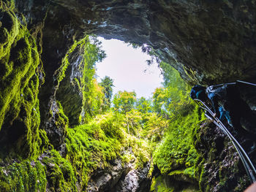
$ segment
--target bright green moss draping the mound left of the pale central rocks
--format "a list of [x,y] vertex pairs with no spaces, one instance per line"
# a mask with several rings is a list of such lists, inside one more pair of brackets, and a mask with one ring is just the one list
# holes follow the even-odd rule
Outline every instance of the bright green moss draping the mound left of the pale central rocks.
[[113,124],[110,133],[111,118],[113,116],[105,115],[89,125],[76,126],[68,131],[66,158],[72,162],[81,186],[87,185],[91,172],[97,167],[104,168],[110,160],[120,156],[124,135]]

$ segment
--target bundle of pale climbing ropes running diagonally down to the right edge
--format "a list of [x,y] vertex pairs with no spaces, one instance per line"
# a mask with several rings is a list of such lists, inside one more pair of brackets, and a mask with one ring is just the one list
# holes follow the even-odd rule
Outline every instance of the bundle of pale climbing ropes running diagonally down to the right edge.
[[232,134],[230,134],[230,131],[227,130],[227,128],[223,125],[222,121],[219,120],[219,118],[214,117],[214,112],[211,111],[211,109],[201,100],[199,99],[195,99],[195,101],[197,102],[197,104],[207,113],[205,113],[206,118],[213,120],[214,124],[219,127],[226,135],[227,137],[231,140],[231,142],[233,143],[234,147],[236,148],[236,151],[238,152],[238,155],[241,158],[241,161],[244,165],[244,169],[246,170],[246,174],[248,175],[251,183],[255,183],[256,179],[256,169],[255,166],[253,166],[252,161],[250,160],[249,156],[246,154],[245,150],[243,149],[243,147],[241,147],[241,145],[238,143],[238,141],[233,137]]

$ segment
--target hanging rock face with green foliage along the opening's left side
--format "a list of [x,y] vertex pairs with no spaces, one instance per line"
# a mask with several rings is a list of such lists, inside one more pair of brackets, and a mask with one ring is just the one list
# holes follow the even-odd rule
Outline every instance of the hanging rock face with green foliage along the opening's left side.
[[104,93],[94,77],[95,64],[103,58],[105,52],[101,50],[101,42],[87,35],[74,42],[56,71],[56,96],[61,101],[70,125],[87,123],[105,110]]

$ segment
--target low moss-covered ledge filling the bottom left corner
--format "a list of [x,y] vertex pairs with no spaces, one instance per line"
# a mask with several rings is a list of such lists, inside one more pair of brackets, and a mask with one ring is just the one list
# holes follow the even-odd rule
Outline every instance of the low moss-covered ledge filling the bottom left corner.
[[0,168],[0,191],[78,191],[75,170],[56,150],[37,161],[21,161]]

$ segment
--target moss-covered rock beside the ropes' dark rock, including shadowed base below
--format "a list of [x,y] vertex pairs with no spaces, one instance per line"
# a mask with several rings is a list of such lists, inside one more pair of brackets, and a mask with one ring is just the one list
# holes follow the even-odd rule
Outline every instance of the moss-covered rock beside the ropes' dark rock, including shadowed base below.
[[[154,151],[155,169],[151,191],[199,191],[195,175],[197,152],[192,133],[204,119],[200,108],[190,104],[187,112],[177,114]],[[191,111],[189,111],[191,110]]]

